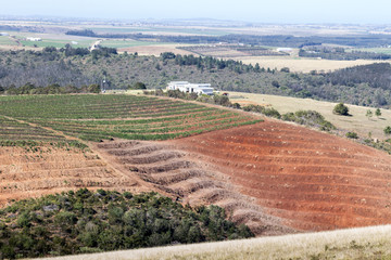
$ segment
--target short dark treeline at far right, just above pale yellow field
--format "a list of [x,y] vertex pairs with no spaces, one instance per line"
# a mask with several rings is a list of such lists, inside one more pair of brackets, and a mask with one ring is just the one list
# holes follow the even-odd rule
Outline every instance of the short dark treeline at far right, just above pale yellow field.
[[355,61],[355,60],[390,60],[391,55],[384,53],[352,51],[345,52],[343,48],[329,50],[327,48],[317,50],[300,49],[299,56],[302,57],[320,57],[325,60],[337,61]]

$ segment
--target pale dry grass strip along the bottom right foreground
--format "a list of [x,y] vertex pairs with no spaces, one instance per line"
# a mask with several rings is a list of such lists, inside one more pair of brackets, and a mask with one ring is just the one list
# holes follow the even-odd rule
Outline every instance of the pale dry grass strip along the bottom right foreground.
[[390,256],[391,225],[383,225],[50,259],[390,259]]

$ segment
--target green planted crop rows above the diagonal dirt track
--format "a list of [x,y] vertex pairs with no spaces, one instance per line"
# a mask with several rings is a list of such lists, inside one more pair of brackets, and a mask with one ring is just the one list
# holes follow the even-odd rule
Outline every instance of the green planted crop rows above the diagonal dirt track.
[[91,141],[167,140],[260,121],[194,103],[109,94],[1,96],[0,114]]

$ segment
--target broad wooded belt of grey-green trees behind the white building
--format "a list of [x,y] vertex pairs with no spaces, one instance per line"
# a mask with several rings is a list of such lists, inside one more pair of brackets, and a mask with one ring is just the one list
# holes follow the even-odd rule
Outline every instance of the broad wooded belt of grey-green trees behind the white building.
[[[77,50],[77,49],[76,49]],[[217,90],[311,98],[355,105],[390,107],[390,64],[356,66],[333,73],[290,73],[262,64],[163,53],[156,56],[43,50],[1,52],[0,86],[89,86],[127,89],[136,82],[149,89],[165,88],[173,80],[209,82]],[[1,91],[1,88],[0,88]]]

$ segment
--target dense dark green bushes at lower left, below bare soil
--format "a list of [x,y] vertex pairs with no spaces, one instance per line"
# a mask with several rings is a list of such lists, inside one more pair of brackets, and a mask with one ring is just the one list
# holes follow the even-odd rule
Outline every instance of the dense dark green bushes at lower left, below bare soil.
[[156,193],[81,188],[0,210],[0,259],[37,258],[254,236],[216,206],[190,208]]

